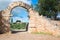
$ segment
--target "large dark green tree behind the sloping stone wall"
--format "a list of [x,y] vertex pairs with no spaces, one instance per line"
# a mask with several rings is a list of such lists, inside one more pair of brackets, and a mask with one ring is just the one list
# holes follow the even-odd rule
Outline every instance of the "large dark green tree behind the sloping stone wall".
[[56,17],[57,11],[60,10],[60,0],[38,0],[36,10],[40,15]]

